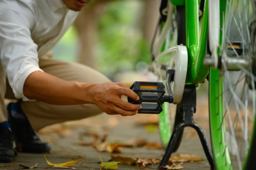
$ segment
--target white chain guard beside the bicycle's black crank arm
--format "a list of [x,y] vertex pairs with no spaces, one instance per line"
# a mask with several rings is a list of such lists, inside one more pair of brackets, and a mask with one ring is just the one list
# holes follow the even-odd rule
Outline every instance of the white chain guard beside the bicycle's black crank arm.
[[[161,57],[167,58],[164,63],[161,63]],[[159,53],[153,64],[155,74],[158,75],[160,81],[162,80],[163,82],[166,82],[166,70],[162,70],[161,66],[165,65],[167,69],[175,70],[174,80],[171,82],[174,104],[180,103],[183,96],[187,75],[187,62],[188,55],[186,46],[178,45]]]

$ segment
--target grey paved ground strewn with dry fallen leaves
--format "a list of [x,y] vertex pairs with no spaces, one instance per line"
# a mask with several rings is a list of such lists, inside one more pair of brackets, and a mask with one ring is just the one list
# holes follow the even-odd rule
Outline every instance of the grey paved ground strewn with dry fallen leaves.
[[[202,126],[209,140],[207,98],[205,99],[205,96],[199,93],[197,103],[198,107],[197,113],[195,114],[195,121]],[[149,122],[157,122],[157,116],[138,114],[132,117],[122,117],[102,114],[85,120],[49,126],[39,133],[43,141],[48,141],[52,145],[52,152],[47,154],[47,159],[50,162],[61,163],[76,158],[82,158],[77,164],[71,167],[75,167],[76,169],[97,170],[100,166],[99,154],[103,162],[108,162],[111,155],[135,158],[162,158],[165,151],[163,149],[136,147],[122,148],[121,152],[118,154],[99,152],[92,146],[77,145],[77,143],[85,143],[92,140],[91,136],[86,136],[85,133],[94,132],[101,137],[106,134],[108,141],[111,143],[116,141],[126,143],[132,138],[142,138],[148,142],[159,142],[158,128],[154,125],[148,125]],[[181,146],[179,150],[172,155],[177,154],[195,154],[203,158],[201,162],[183,163],[183,169],[210,169],[196,131],[191,128],[185,129]],[[18,165],[33,166],[36,163],[38,163],[37,169],[50,167],[44,159],[44,154],[18,153],[13,162],[0,163],[0,169],[23,169]],[[131,165],[118,165],[118,169],[133,170],[143,168],[137,168]],[[157,169],[157,166],[153,165],[147,169]]]

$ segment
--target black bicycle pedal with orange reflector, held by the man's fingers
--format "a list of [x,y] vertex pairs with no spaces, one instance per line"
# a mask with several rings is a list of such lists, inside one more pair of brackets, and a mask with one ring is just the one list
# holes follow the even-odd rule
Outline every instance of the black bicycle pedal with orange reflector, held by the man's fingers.
[[138,101],[128,97],[128,102],[133,104],[141,104],[142,108],[139,113],[159,114],[162,112],[162,103],[168,101],[165,94],[165,86],[161,82],[134,82],[132,89],[140,99]]

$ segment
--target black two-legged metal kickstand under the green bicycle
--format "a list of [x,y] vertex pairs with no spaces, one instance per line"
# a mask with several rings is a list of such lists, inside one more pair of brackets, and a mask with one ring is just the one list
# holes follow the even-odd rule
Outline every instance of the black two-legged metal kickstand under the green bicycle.
[[211,169],[214,169],[214,160],[211,154],[211,150],[207,141],[207,138],[202,130],[202,128],[194,122],[194,113],[196,112],[196,87],[195,85],[185,85],[184,94],[182,101],[180,103],[181,109],[183,109],[183,121],[179,123],[173,130],[171,139],[169,141],[168,147],[166,149],[165,155],[161,160],[159,167],[165,167],[168,160],[173,152],[176,141],[181,133],[181,131],[186,127],[190,126],[194,128],[201,140],[204,153],[208,159]]

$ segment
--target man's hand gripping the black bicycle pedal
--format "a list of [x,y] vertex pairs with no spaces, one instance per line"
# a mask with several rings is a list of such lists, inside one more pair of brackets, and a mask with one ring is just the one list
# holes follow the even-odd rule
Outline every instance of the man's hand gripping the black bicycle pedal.
[[142,108],[140,104],[131,104],[121,98],[124,95],[139,100],[139,96],[123,83],[94,84],[91,90],[90,98],[93,99],[93,103],[106,114],[131,116]]

